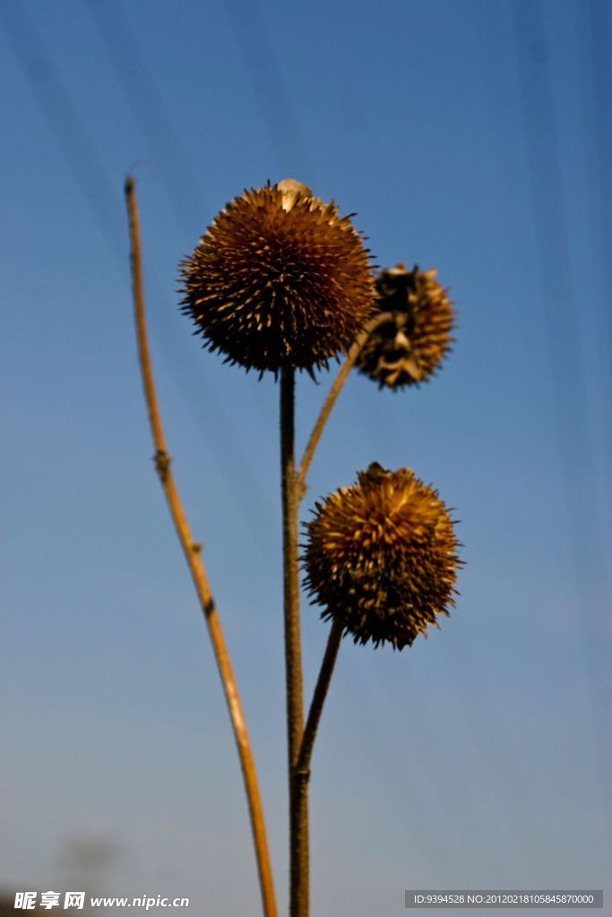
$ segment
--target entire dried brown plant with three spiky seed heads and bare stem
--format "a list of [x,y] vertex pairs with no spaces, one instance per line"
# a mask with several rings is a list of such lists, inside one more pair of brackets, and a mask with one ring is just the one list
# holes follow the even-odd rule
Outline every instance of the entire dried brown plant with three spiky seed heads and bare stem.
[[[146,335],[135,185],[126,182],[139,359],[155,464],[217,657],[239,751],[265,917],[274,917],[272,869],[255,767],[238,688],[201,546],[195,543],[172,478]],[[280,373],[284,649],[289,779],[290,914],[308,914],[310,757],[343,635],[401,650],[427,636],[454,604],[462,561],[453,522],[438,492],[412,470],[373,462],[340,487],[305,525],[301,558],[312,602],[331,621],[317,685],[304,722],[297,512],[306,474],[339,391],[356,366],[380,388],[417,384],[450,349],[454,311],[436,271],[403,264],[374,277],[361,234],[294,179],[245,191],[215,217],[180,265],[182,310],[209,350],[246,370]],[[295,370],[311,375],[342,352],[299,467],[295,466]]]

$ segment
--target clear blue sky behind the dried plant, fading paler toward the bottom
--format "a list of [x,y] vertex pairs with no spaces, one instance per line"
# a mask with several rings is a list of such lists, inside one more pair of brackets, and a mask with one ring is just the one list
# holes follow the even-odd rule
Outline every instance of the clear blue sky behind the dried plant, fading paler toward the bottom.
[[[286,177],[356,213],[381,268],[436,267],[459,314],[418,391],[351,376],[308,478],[305,519],[373,460],[414,469],[455,508],[466,561],[427,641],[340,647],[312,764],[312,913],[396,914],[409,888],[612,893],[611,25],[608,0],[2,6],[3,889],[260,912],[228,715],[150,461],[132,171],[168,447],[280,911],[278,389],[204,351],[176,289],[217,211]],[[298,382],[298,452],[333,371]],[[305,601],[306,699],[327,631]],[[103,841],[115,856],[85,875]]]

